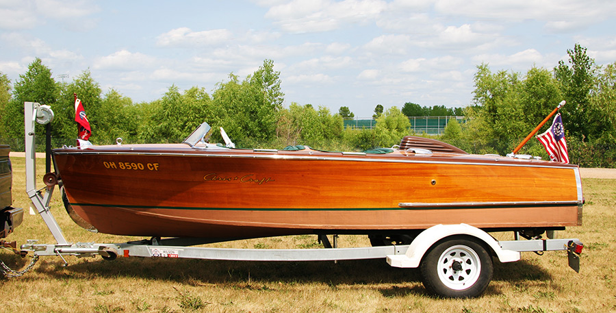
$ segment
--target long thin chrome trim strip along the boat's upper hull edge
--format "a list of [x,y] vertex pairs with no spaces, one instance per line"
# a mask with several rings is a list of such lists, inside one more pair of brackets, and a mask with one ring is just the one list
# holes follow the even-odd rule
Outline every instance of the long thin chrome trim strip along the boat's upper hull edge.
[[[280,152],[280,151],[279,151]],[[502,164],[500,162],[486,163],[486,162],[447,162],[447,161],[433,161],[426,160],[425,158],[431,158],[431,155],[420,155],[418,158],[423,160],[387,160],[387,158],[349,158],[349,157],[321,157],[316,155],[288,155],[288,154],[205,154],[205,153],[157,153],[157,152],[101,152],[101,151],[70,151],[70,152],[53,152],[54,155],[60,154],[93,154],[93,155],[161,155],[161,156],[185,156],[185,157],[201,157],[201,158],[265,158],[265,159],[283,159],[283,160],[325,160],[325,161],[352,161],[352,162],[389,162],[389,163],[416,163],[416,164],[457,164],[457,165],[489,165],[489,166],[521,166],[521,167],[537,167],[537,168],[567,168],[569,166],[547,166],[539,164]],[[500,161],[500,160],[497,160]]]

